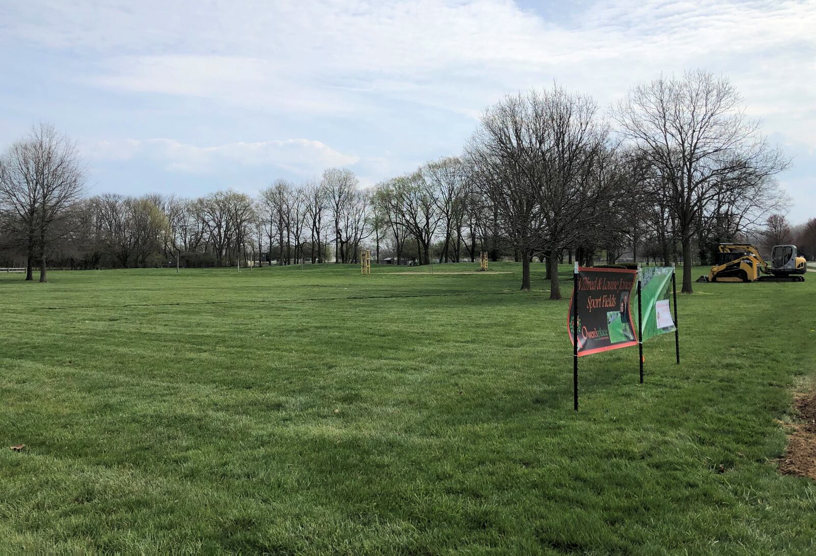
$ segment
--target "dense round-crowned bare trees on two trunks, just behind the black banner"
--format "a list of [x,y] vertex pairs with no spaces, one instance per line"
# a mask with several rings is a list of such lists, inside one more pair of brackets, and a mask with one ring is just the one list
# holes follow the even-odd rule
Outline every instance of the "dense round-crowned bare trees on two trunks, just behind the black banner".
[[543,250],[550,298],[561,299],[561,252],[609,222],[608,193],[619,183],[607,135],[591,98],[557,86],[506,96],[482,115],[468,145],[473,183],[521,259],[522,290],[530,289],[534,252]]

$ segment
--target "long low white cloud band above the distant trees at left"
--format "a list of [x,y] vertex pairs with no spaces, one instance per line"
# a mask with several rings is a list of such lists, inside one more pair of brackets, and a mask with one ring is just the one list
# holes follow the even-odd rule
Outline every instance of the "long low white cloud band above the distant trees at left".
[[320,141],[271,140],[199,147],[171,139],[100,141],[83,149],[94,160],[149,158],[169,171],[211,173],[224,165],[269,167],[299,176],[313,176],[326,167],[348,166],[360,160],[339,153]]

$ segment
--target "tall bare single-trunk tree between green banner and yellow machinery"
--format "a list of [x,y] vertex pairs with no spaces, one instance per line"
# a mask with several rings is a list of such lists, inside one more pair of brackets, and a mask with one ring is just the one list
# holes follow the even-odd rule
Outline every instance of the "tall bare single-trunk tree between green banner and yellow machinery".
[[723,188],[767,184],[789,161],[747,118],[727,78],[703,70],[633,88],[614,112],[621,132],[650,160],[669,189],[683,250],[683,289],[692,291],[691,242],[700,216]]

